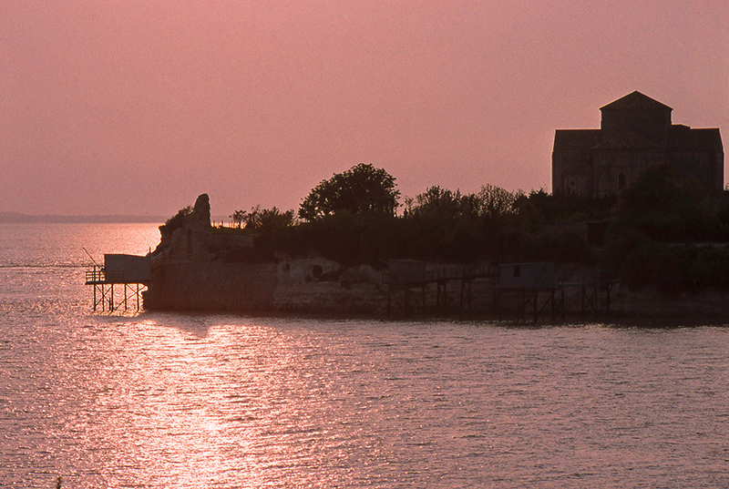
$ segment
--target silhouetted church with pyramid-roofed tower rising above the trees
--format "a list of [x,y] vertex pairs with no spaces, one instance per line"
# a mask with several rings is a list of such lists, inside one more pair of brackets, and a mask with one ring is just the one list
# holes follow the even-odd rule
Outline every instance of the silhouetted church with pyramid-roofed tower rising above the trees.
[[707,190],[724,188],[724,147],[718,128],[671,123],[673,108],[632,92],[601,107],[600,129],[558,129],[552,150],[552,191],[616,194],[644,168],[669,163],[677,178]]

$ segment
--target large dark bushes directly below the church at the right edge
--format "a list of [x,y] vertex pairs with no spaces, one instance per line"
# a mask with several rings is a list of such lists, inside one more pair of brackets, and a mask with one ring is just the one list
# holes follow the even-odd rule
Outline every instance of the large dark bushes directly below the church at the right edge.
[[729,288],[729,192],[707,192],[659,165],[621,191],[610,219],[600,264],[622,283],[666,293]]

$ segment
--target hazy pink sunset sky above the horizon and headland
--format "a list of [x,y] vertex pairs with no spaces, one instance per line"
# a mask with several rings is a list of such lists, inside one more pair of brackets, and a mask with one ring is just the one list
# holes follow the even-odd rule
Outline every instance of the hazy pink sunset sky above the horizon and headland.
[[554,130],[640,90],[729,138],[726,0],[7,0],[0,211],[298,209],[365,162],[404,195],[550,188]]

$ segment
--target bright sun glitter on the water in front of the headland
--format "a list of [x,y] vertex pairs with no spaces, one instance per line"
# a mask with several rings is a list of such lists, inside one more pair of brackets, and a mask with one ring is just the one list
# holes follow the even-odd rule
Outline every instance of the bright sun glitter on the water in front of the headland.
[[[108,475],[118,483],[149,480],[178,487],[212,484],[221,474],[256,480],[256,465],[240,457],[251,453],[251,437],[232,429],[230,401],[237,387],[265,384],[252,379],[261,375],[250,362],[236,362],[231,369],[232,362],[221,354],[228,351],[230,337],[193,318],[180,328],[141,321],[116,338],[108,350],[123,355],[126,367],[108,367],[117,382],[99,400],[112,414],[99,434],[111,438],[119,456],[137,453],[139,465]],[[129,348],[128,341],[138,347]],[[251,417],[246,412],[237,416]]]

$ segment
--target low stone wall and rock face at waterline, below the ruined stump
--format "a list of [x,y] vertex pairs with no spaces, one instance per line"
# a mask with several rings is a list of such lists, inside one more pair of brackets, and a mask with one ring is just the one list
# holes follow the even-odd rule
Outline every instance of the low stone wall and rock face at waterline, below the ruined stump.
[[385,311],[386,294],[375,270],[345,270],[331,260],[177,262],[153,268],[144,305],[168,311],[373,314]]

